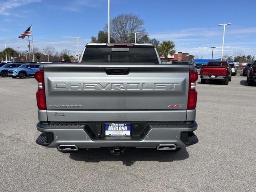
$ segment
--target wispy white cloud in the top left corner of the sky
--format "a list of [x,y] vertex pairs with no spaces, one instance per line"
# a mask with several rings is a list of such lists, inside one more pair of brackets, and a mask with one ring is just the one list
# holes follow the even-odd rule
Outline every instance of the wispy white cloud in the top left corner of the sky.
[[16,8],[22,5],[26,5],[33,2],[40,2],[41,0],[7,0],[4,3],[1,3],[0,14],[1,15],[10,15],[9,10]]

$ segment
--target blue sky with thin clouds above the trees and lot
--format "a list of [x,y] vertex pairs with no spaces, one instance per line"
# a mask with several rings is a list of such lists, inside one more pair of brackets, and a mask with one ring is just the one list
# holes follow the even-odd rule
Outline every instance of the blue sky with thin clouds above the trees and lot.
[[[111,18],[121,13],[138,14],[145,22],[150,38],[173,40],[176,51],[220,58],[223,26],[227,26],[224,54],[256,56],[255,0],[110,0]],[[4,43],[16,50],[27,49],[27,41],[18,39],[32,24],[34,45],[47,45],[60,51],[76,52],[91,36],[97,36],[107,24],[107,0],[0,0],[0,50]]]

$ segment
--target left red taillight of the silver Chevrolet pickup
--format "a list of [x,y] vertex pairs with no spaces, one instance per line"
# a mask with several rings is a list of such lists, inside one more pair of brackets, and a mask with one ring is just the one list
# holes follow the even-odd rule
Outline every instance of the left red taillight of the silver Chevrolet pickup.
[[46,99],[45,99],[45,89],[44,89],[44,71],[37,71],[35,78],[38,82],[38,90],[36,92],[36,102],[38,109],[46,110]]

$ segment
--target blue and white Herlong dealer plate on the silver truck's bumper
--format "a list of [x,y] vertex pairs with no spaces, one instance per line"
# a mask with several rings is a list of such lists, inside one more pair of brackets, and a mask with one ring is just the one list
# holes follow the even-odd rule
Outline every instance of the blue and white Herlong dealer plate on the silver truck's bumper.
[[130,136],[131,124],[129,123],[106,123],[105,135],[106,136]]

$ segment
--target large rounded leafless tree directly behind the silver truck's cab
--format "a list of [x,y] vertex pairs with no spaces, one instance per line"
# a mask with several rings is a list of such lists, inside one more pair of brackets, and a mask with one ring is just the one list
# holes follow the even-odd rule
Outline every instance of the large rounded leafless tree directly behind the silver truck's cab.
[[[110,35],[117,43],[132,43],[135,35],[132,32],[139,32],[137,38],[148,35],[143,27],[144,21],[136,14],[120,14],[114,17],[110,22]],[[108,31],[107,26],[104,29]]]

